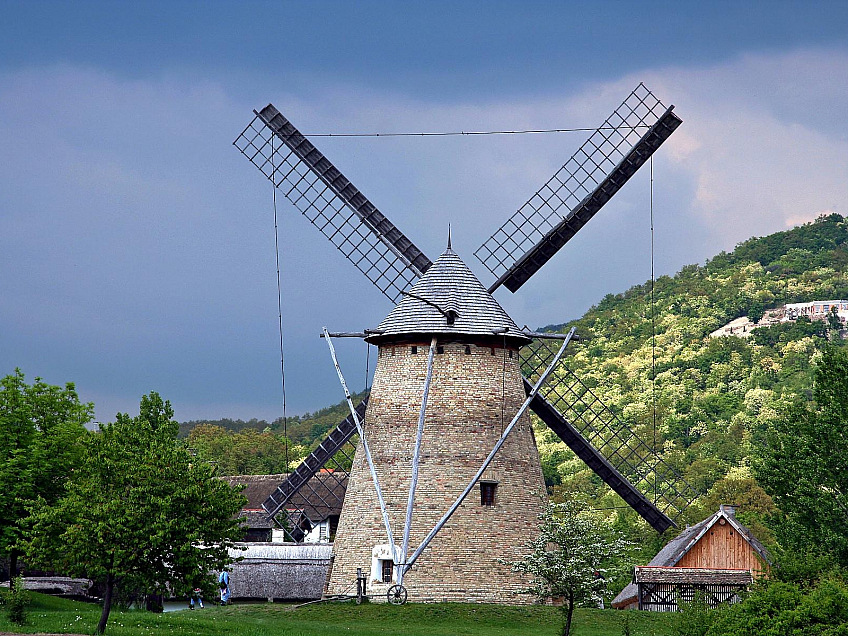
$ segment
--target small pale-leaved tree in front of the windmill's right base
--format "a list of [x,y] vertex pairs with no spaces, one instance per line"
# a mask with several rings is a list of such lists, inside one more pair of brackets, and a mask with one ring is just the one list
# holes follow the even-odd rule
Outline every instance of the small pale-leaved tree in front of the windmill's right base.
[[620,567],[628,542],[574,501],[550,503],[539,515],[539,536],[527,544],[529,554],[509,563],[529,574],[524,590],[539,600],[562,598],[563,636],[571,634],[576,605],[596,605],[603,598],[605,576]]

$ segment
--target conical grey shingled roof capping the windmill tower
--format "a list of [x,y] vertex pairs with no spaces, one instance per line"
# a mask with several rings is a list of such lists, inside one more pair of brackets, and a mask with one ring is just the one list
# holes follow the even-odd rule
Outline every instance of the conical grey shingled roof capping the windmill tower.
[[[425,302],[426,301],[426,302]],[[446,314],[448,314],[446,316]],[[453,317],[453,324],[449,324]],[[417,334],[506,337],[513,343],[530,342],[518,325],[462,262],[450,244],[425,274],[367,338],[380,342],[392,336]]]

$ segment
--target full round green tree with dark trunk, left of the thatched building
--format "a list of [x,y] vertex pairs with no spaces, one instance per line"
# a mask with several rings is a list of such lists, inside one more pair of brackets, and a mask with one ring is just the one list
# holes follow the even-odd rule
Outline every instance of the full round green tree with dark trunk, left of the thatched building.
[[55,505],[39,500],[24,543],[35,563],[105,583],[97,633],[116,586],[161,594],[212,587],[241,536],[245,499],[177,441],[170,402],[155,392],[137,417],[119,413],[84,440],[82,465]]

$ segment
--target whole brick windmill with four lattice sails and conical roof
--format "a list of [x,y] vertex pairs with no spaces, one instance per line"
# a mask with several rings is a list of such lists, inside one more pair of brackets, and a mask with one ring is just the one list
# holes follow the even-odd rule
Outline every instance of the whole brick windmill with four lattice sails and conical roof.
[[427,258],[273,105],[254,115],[234,145],[396,305],[376,329],[325,330],[334,359],[332,337],[377,346],[370,404],[354,408],[345,388],[351,415],[264,504],[297,517],[298,493],[322,500],[316,473],[345,479],[351,463],[330,593],[364,568],[369,592],[390,601],[408,588],[416,600],[515,602],[521,582],[498,559],[532,534],[544,489],[528,407],[657,532],[674,525],[697,493],[561,362],[573,331],[520,329],[492,296],[518,291],[635,174],[682,123],[673,106],[639,84],[475,252],[488,288],[450,239]]

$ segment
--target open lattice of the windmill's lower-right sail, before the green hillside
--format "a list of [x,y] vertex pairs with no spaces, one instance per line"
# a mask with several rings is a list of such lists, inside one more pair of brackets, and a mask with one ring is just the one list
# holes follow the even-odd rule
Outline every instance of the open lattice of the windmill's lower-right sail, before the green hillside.
[[[533,382],[556,353],[548,340],[536,340],[521,349],[521,369]],[[563,360],[540,393],[633,486],[673,521],[701,493],[670,466],[655,449],[583,382]]]

